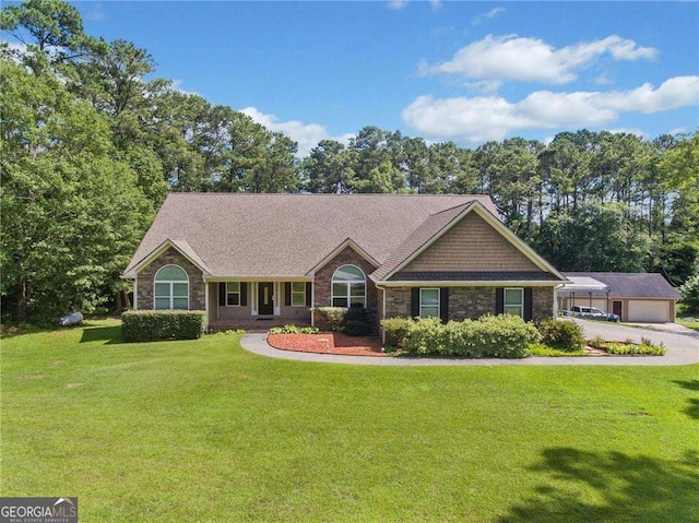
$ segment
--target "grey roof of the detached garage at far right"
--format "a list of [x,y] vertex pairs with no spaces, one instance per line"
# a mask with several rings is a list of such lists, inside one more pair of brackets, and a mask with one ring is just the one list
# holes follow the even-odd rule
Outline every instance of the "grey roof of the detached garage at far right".
[[[615,298],[679,299],[679,293],[659,273],[567,272],[565,275],[571,280],[583,276],[602,282]],[[559,294],[569,294],[567,286]],[[606,293],[602,295],[606,296]]]

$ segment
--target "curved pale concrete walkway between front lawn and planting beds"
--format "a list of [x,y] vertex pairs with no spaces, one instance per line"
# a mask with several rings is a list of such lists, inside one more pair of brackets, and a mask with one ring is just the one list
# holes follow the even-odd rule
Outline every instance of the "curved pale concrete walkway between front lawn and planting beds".
[[[623,340],[625,340],[624,337]],[[270,358],[292,359],[322,364],[380,365],[386,367],[434,367],[440,365],[471,365],[493,367],[497,365],[690,365],[699,362],[699,341],[694,347],[674,348],[667,345],[665,356],[588,356],[588,357],[543,357],[531,356],[523,359],[448,359],[406,358],[379,356],[339,356],[334,354],[296,353],[280,350],[266,343],[266,333],[250,332],[242,336],[240,345],[246,350]]]

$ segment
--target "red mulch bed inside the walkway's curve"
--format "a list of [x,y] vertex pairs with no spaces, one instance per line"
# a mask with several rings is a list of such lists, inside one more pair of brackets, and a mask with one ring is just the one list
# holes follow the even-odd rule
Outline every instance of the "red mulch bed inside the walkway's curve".
[[344,356],[383,356],[381,342],[336,332],[320,334],[268,334],[266,343],[282,350],[342,354]]

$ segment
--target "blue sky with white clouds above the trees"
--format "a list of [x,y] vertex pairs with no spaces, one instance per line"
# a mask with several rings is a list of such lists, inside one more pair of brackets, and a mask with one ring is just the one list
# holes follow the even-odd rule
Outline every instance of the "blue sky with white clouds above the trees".
[[299,144],[365,126],[475,147],[699,127],[699,2],[73,2],[180,91]]

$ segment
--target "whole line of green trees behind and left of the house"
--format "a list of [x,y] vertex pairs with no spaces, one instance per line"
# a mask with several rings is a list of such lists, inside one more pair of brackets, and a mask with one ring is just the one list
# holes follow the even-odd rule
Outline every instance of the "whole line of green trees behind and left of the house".
[[298,158],[291,138],[174,88],[132,43],[83,31],[62,0],[0,11],[3,314],[128,306],[119,278],[169,191],[484,193],[562,271],[699,262],[699,131],[562,132],[466,148],[365,127]]

